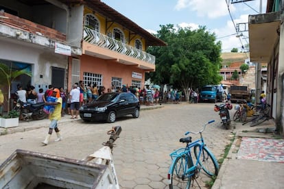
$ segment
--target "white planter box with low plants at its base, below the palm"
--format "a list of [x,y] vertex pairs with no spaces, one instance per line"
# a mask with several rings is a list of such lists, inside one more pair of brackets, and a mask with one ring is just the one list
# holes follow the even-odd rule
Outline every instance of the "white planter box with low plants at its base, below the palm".
[[11,110],[8,114],[1,117],[0,127],[9,128],[19,126],[19,116],[20,112],[16,110]]

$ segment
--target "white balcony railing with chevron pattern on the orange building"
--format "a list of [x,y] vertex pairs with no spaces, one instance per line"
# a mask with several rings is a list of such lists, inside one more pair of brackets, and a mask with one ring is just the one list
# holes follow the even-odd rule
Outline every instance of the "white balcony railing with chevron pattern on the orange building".
[[114,38],[110,38],[104,34],[100,34],[99,32],[88,27],[84,27],[84,41],[109,49],[111,51],[115,51],[117,53],[121,53],[123,55],[128,55],[132,58],[136,58],[150,64],[155,64],[154,55],[136,49],[124,42],[115,40]]

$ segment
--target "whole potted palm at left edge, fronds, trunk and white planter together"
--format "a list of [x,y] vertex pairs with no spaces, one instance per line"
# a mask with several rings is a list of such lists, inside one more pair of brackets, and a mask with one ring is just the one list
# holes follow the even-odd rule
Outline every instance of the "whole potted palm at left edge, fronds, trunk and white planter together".
[[[4,95],[4,99],[5,97],[8,96],[7,97],[7,101],[8,101],[7,111],[8,112],[6,115],[2,116],[1,118],[1,127],[3,127],[2,124],[5,122],[3,120],[10,119],[10,121],[12,121],[11,118],[18,119],[18,125],[16,126],[19,126],[19,113],[17,112],[18,113],[17,114],[16,111],[14,110],[10,111],[10,97],[11,97],[11,84],[14,81],[14,79],[19,77],[20,75],[28,75],[31,77],[32,73],[30,71],[27,71],[26,69],[22,69],[22,70],[12,69],[12,62],[10,63],[10,66],[8,66],[7,64],[0,63],[0,87],[8,88],[8,94]],[[15,127],[15,126],[12,126],[12,127]]]

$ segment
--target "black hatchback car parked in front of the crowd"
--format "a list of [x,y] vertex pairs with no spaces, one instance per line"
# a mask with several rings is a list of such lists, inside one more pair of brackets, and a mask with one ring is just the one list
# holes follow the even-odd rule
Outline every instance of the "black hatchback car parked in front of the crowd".
[[121,116],[132,114],[139,117],[140,103],[131,92],[110,92],[99,96],[95,101],[82,105],[80,117],[83,121],[115,122]]

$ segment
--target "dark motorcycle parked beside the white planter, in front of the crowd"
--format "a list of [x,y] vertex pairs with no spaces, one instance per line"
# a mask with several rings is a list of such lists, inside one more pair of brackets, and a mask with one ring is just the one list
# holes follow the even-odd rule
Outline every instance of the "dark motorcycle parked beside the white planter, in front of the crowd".
[[45,103],[23,103],[21,101],[17,101],[14,107],[14,110],[19,110],[21,112],[21,118],[23,120],[29,121],[33,120],[41,120],[47,117],[47,114],[43,111],[43,107]]

